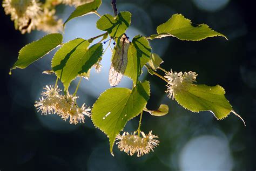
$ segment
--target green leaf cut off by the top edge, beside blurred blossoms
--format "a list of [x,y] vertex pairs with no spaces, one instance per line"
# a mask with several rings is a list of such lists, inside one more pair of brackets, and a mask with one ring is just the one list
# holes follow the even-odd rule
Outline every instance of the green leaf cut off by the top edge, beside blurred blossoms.
[[63,24],[65,26],[66,23],[68,23],[71,19],[76,18],[76,17],[82,17],[84,15],[87,15],[89,13],[95,13],[96,10],[99,8],[99,6],[102,4],[101,0],[95,0],[90,3],[86,3],[80,6],[77,6],[75,11],[71,13],[69,18],[65,21]]

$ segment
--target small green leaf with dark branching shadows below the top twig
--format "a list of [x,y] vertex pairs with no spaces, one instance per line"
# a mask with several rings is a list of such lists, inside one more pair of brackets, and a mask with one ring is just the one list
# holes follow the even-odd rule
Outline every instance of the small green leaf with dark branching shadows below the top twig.
[[127,11],[118,13],[116,17],[106,14],[97,21],[97,28],[107,31],[111,37],[120,37],[129,28],[131,16],[131,13]]

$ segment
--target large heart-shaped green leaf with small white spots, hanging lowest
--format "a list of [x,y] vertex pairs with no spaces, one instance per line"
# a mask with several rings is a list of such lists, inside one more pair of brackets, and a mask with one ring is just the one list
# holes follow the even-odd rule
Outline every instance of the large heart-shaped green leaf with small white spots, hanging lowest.
[[146,81],[138,83],[132,90],[110,88],[100,94],[92,108],[92,122],[103,131],[110,141],[113,155],[114,139],[122,131],[126,122],[136,117],[146,106],[150,97],[150,85]]

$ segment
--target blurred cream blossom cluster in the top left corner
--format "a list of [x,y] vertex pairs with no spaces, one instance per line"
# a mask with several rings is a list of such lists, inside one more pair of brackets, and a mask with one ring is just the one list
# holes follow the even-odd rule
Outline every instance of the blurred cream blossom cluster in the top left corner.
[[42,30],[53,33],[63,29],[62,19],[57,19],[55,10],[43,9],[38,0],[4,0],[6,15],[11,15],[15,28],[22,34],[31,30]]

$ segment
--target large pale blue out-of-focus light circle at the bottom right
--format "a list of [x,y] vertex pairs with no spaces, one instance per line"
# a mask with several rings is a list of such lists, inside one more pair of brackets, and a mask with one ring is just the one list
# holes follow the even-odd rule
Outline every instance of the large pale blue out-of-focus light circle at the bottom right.
[[232,170],[233,160],[225,138],[204,135],[187,142],[179,157],[180,170]]

